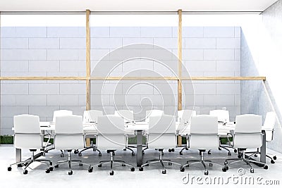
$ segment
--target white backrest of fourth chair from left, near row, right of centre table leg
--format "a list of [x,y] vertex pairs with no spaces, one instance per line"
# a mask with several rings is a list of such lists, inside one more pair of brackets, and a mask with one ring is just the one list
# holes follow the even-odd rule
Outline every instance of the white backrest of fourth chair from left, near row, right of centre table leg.
[[148,132],[149,148],[173,149],[176,147],[176,118],[173,115],[151,116]]

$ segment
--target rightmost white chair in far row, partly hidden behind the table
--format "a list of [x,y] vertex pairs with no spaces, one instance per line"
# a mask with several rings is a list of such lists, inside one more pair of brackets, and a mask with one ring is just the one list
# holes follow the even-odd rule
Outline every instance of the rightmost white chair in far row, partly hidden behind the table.
[[[223,123],[223,125],[225,125],[226,123],[229,122],[229,111],[226,110],[213,110],[213,111],[209,111],[209,115],[212,116],[216,116],[218,123]],[[219,132],[219,138],[227,138],[227,137],[231,137],[231,134],[228,130],[221,130],[221,132]],[[221,149],[225,149],[226,151],[228,151],[228,156],[231,156],[231,151],[228,149],[231,146],[226,146],[220,143],[219,140],[219,150]],[[210,151],[208,152],[210,154]]]

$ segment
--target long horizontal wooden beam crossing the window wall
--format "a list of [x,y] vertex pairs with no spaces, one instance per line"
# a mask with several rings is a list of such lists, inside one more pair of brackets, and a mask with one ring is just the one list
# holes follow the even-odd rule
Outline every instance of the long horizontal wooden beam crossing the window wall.
[[[179,80],[178,77],[0,77],[0,80]],[[182,77],[181,80],[266,80],[253,77]]]

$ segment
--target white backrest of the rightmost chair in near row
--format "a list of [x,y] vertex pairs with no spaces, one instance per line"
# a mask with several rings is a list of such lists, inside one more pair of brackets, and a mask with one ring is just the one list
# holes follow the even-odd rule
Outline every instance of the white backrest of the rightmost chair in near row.
[[236,116],[234,147],[240,149],[262,146],[262,116],[244,114]]

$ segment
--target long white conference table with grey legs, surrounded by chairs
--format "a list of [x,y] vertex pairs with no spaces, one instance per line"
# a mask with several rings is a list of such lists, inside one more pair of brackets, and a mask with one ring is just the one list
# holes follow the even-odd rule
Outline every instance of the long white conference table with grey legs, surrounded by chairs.
[[[179,122],[176,122],[176,130],[178,130]],[[13,128],[12,128],[13,130]],[[44,132],[49,132],[49,134],[54,134],[55,123],[52,122],[40,122],[40,130],[42,134]],[[135,122],[135,123],[125,123],[125,132],[135,132],[137,137],[137,151],[136,151],[136,164],[137,167],[142,165],[142,137],[143,132],[149,130],[149,123],[146,122]],[[219,123],[218,124],[219,136],[226,136],[226,132],[233,132],[235,130],[234,123]],[[97,124],[95,123],[83,123],[83,131],[85,134],[95,134],[97,131]],[[190,125],[185,125],[183,130],[180,130],[181,136],[190,134]],[[260,162],[266,162],[266,135],[264,127],[262,127],[262,146],[260,148]],[[39,157],[39,156],[37,156]],[[21,161],[21,149],[16,149],[16,162]]]

